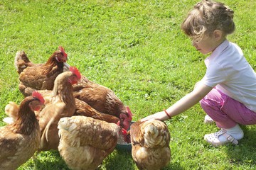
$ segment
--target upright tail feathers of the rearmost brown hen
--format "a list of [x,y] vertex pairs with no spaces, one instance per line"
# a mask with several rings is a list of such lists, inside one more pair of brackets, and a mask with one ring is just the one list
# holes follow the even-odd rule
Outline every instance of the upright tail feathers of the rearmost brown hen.
[[26,69],[31,64],[26,53],[24,51],[18,51],[14,59],[14,67],[16,68],[18,74],[23,72],[23,69]]

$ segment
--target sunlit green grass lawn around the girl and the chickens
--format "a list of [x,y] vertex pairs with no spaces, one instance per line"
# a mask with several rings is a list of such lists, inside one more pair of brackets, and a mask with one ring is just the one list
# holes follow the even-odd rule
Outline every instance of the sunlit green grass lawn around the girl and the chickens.
[[[14,57],[24,50],[32,62],[46,62],[59,45],[70,65],[112,89],[134,120],[162,111],[193,89],[205,72],[206,56],[196,52],[180,25],[195,0],[0,0],[0,126],[9,101],[19,103]],[[256,1],[225,0],[235,11],[237,30],[228,37],[256,69]],[[255,125],[243,126],[238,146],[214,148],[203,135],[199,105],[166,121],[171,162],[166,169],[256,169]],[[1,153],[0,153],[1,154]],[[68,169],[58,152],[41,152],[18,169]],[[137,169],[132,156],[114,150],[102,169]]]

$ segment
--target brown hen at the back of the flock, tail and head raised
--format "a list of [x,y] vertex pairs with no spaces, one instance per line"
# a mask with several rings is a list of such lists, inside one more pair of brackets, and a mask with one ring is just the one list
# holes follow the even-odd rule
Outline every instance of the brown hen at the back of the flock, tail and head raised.
[[63,47],[59,47],[59,50],[53,52],[45,64],[33,64],[25,52],[17,52],[14,65],[19,74],[18,89],[23,96],[31,94],[27,91],[52,90],[54,80],[58,74],[63,72],[64,65],[69,67],[66,64],[67,60],[68,55]]

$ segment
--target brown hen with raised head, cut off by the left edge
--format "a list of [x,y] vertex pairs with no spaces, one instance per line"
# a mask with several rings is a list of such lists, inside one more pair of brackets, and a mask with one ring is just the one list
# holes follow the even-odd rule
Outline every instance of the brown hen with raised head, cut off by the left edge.
[[34,111],[43,103],[41,94],[34,92],[21,101],[14,123],[0,128],[0,169],[17,169],[38,149],[40,128]]

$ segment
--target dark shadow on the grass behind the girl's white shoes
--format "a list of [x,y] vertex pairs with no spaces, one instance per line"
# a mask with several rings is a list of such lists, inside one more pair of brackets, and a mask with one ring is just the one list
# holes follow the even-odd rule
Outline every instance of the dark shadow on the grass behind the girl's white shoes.
[[242,130],[244,130],[244,138],[237,146],[228,145],[226,152],[230,161],[235,164],[256,166],[256,126],[242,126]]

